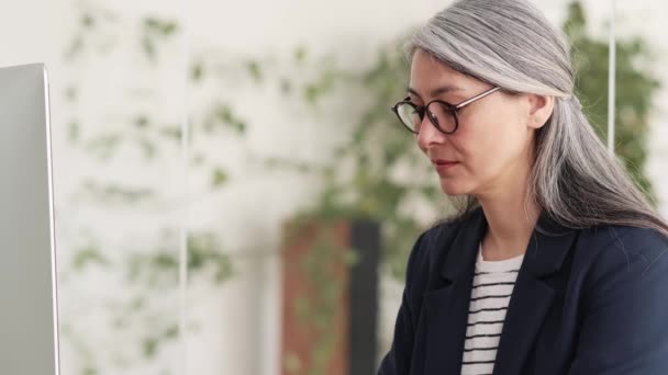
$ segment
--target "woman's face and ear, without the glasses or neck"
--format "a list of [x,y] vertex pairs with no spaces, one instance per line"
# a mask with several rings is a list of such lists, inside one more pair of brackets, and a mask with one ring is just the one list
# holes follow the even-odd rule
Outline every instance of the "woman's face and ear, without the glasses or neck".
[[[456,105],[493,87],[417,49],[409,88],[414,104],[426,105],[439,99]],[[536,127],[531,118],[534,100],[502,91],[491,93],[460,109],[459,126],[448,135],[424,116],[417,145],[432,160],[444,193],[480,197],[504,186],[516,186],[513,179],[526,179]],[[455,163],[443,166],[437,161]]]

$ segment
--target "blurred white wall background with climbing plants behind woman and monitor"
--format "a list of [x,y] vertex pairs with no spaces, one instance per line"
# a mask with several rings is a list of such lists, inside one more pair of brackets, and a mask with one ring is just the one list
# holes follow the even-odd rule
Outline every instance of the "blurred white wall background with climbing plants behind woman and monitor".
[[[402,42],[448,3],[4,3],[0,66],[49,71],[63,374],[374,373],[452,209],[389,111]],[[612,2],[535,3],[605,141]],[[617,4],[615,151],[664,216],[667,22]]]

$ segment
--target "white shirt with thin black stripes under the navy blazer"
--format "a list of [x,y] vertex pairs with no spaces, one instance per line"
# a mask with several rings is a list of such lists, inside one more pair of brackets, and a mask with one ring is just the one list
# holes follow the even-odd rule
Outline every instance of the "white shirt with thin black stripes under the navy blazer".
[[482,259],[478,248],[476,274],[468,310],[461,375],[491,374],[501,328],[524,255],[502,260]]

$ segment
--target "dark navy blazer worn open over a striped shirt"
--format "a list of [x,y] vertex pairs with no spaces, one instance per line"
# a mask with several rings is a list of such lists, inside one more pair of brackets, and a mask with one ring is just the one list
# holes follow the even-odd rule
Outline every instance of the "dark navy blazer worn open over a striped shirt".
[[[460,374],[486,228],[478,207],[420,236],[379,375]],[[515,281],[493,371],[520,374],[668,374],[668,238],[622,226],[568,229],[542,213]]]

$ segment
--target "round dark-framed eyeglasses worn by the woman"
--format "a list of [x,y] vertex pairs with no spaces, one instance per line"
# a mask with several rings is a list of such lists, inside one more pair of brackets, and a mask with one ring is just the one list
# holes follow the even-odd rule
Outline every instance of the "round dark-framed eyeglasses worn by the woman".
[[457,111],[498,90],[501,90],[501,88],[494,87],[459,104],[450,104],[442,100],[433,100],[426,105],[421,106],[411,103],[410,99],[405,98],[401,102],[394,104],[391,110],[397,114],[403,126],[405,126],[405,128],[411,133],[420,133],[420,126],[422,125],[424,115],[426,114],[432,124],[434,124],[434,126],[441,133],[453,134],[457,130],[457,127],[459,127]]

